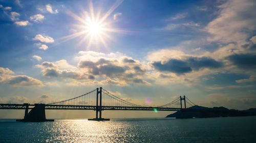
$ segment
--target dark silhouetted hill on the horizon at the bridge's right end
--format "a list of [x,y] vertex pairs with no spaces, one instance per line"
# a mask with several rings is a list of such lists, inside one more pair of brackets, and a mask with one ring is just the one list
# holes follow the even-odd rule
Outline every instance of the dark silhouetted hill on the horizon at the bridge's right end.
[[180,110],[172,113],[166,118],[211,118],[211,117],[235,117],[235,116],[256,116],[256,108],[250,108],[247,110],[228,109],[225,107],[203,107],[192,106],[186,110]]

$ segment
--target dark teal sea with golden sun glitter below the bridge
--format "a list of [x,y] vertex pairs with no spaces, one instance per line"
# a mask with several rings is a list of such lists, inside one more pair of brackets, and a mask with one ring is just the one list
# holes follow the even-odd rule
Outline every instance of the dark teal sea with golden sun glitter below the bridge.
[[256,117],[0,120],[0,142],[256,142]]

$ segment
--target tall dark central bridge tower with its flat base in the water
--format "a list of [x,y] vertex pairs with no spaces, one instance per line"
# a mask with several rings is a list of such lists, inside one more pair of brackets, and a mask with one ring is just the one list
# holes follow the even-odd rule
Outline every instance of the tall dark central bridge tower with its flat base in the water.
[[[89,121],[110,121],[110,119],[101,118],[101,111],[102,111],[102,88],[97,88],[96,94],[96,118],[88,119]],[[98,118],[99,112],[99,118]]]

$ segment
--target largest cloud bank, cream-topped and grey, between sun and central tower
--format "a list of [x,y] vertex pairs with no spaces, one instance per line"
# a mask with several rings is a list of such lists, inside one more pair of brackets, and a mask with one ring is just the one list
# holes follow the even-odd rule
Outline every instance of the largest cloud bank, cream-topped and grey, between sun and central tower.
[[144,66],[121,53],[80,51],[78,54],[77,67],[69,65],[66,60],[43,62],[36,67],[42,69],[43,76],[73,80],[68,85],[151,85],[142,78],[147,74]]

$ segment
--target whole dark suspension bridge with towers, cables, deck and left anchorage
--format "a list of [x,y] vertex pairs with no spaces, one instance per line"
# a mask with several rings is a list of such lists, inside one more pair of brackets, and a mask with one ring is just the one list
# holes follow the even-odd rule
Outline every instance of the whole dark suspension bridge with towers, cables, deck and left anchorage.
[[[180,104],[178,101],[180,101]],[[182,101],[184,102],[184,108],[182,108]],[[45,109],[95,110],[96,118],[89,120],[105,121],[109,119],[102,118],[102,110],[179,111],[187,110],[188,106],[194,105],[196,104],[191,102],[186,96],[177,97],[172,102],[155,107],[138,105],[121,99],[100,87],[86,94],[68,100],[48,104],[0,104],[0,109],[25,109],[24,119],[17,121],[48,121],[45,116]],[[30,112],[28,112],[29,109],[31,109]]]

